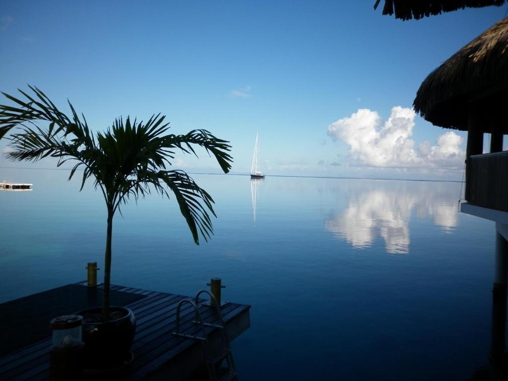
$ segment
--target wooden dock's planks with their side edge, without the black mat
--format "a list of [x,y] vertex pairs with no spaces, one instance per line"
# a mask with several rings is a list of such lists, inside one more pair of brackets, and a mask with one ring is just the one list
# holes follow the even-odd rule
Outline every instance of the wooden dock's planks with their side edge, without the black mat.
[[[86,293],[88,289],[86,282],[78,284],[82,285],[83,293]],[[101,288],[101,285],[97,287]],[[128,374],[122,375],[121,378],[115,376],[114,379],[179,380],[189,377],[204,364],[199,342],[172,334],[175,330],[177,304],[187,297],[120,285],[112,285],[111,290],[144,296],[143,299],[126,305],[134,311],[137,321],[136,336],[132,346],[134,360]],[[218,319],[217,313],[213,308],[205,305],[205,302],[205,299],[201,299],[199,303],[203,320],[214,323]],[[236,303],[226,303],[221,306],[230,340],[249,328],[249,308],[249,305]],[[72,312],[74,311],[69,311],[69,313]],[[181,331],[188,334],[199,333],[198,326],[192,323],[193,320],[194,310],[189,304],[185,304],[180,313]],[[221,344],[218,330],[211,327],[207,328],[207,332],[209,350],[212,354],[218,353]],[[50,346],[51,338],[48,337],[0,357],[0,379],[34,381],[48,379]],[[93,375],[89,379],[93,379]]]

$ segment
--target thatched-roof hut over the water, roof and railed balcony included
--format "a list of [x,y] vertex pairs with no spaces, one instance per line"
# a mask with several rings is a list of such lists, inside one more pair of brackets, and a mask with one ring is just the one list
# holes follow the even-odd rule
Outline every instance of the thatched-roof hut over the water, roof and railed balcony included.
[[[505,176],[508,155],[489,156],[486,160],[479,156],[484,156],[484,133],[491,134],[490,152],[502,151],[503,135],[508,134],[507,101],[508,18],[505,18],[430,73],[413,103],[415,111],[432,124],[467,131],[464,198],[489,208],[492,205],[484,201],[492,198],[500,202],[495,209],[506,211],[508,182],[499,185],[499,179],[508,179]],[[500,193],[486,192],[484,186],[489,192],[493,189],[492,192]],[[479,201],[482,197],[485,200]]]

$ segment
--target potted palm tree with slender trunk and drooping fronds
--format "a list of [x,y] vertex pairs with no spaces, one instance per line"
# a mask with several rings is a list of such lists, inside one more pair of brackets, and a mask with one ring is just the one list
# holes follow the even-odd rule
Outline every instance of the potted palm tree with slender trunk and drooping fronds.
[[0,133],[18,128],[9,138],[12,151],[7,156],[15,161],[31,162],[55,157],[58,167],[71,161],[74,166],[68,180],[82,169],[80,190],[89,178],[101,190],[108,212],[102,309],[103,319],[107,321],[115,212],[129,199],[137,201],[153,191],[169,199],[170,190],[194,242],[199,245],[200,235],[208,241],[213,234],[208,213],[216,216],[213,199],[187,173],[167,167],[172,165],[175,150],[197,156],[193,148],[197,145],[213,155],[220,168],[228,173],[232,163],[228,153],[231,146],[206,130],[193,130],[186,135],[167,134],[169,123],[164,123],[165,116],[161,114],[152,115],[146,123],[131,121],[130,117],[123,121],[120,117],[106,132],[97,132],[94,137],[84,115],[80,118],[70,102],[72,115],[67,116],[41,90],[29,87],[33,96],[19,90],[25,100],[3,93],[17,105],[0,105]]

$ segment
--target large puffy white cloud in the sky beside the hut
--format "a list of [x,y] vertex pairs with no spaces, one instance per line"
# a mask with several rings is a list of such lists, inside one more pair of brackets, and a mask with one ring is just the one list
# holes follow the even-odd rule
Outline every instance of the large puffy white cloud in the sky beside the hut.
[[436,144],[421,143],[415,148],[410,139],[415,126],[415,112],[396,106],[388,120],[369,109],[359,109],[350,117],[328,126],[328,135],[350,146],[353,165],[371,167],[462,168],[465,153],[462,138],[454,132],[437,137]]

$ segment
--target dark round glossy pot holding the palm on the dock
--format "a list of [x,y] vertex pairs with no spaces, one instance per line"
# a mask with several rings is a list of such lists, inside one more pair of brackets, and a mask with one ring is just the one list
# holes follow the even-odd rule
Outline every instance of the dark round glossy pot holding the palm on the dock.
[[[77,312],[79,315],[100,314],[102,307],[88,308]],[[84,365],[88,369],[110,369],[121,366],[130,353],[134,334],[136,333],[136,318],[134,312],[125,307],[110,307],[111,312],[125,313],[118,319],[107,323],[84,323],[83,342]],[[86,321],[86,319],[85,319]]]

